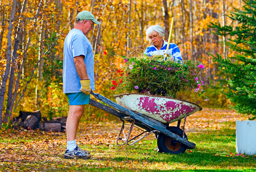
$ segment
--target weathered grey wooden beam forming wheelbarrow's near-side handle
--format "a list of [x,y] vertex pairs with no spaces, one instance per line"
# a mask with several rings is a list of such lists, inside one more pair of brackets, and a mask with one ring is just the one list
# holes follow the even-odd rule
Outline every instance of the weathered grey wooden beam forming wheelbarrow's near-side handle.
[[161,133],[163,133],[164,135],[167,135],[169,137],[171,137],[172,139],[174,140],[177,140],[178,142],[180,143],[183,143],[185,145],[187,145],[190,149],[194,149],[196,147],[196,144],[195,143],[192,143],[192,142],[189,142],[187,141],[186,139],[183,139],[181,136],[178,136],[168,130],[166,130],[165,127],[162,127],[162,126],[158,126],[156,125],[155,123],[149,121],[147,118],[144,118],[142,116],[139,116],[137,114],[135,114],[133,111],[129,110],[129,109],[126,109],[124,108],[123,106],[120,106],[118,104],[116,104],[115,102],[107,99],[106,97],[103,97],[101,96],[100,94],[98,93],[94,93],[94,92],[91,92],[91,94],[97,98],[98,100],[102,101],[102,102],[105,102],[106,104],[108,104],[109,106],[112,106],[114,107],[115,109],[119,110],[119,111],[122,111],[124,114],[128,115],[128,116],[131,116],[133,119],[137,119],[138,121],[140,121],[141,123],[143,124],[146,124],[150,127],[153,127],[155,128],[155,130],[158,130],[160,131]]

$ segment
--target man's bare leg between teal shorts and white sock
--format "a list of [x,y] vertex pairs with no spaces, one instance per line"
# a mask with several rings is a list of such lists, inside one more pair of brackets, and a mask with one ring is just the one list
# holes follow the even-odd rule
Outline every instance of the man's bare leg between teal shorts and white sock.
[[70,105],[66,122],[67,141],[76,139],[79,121],[84,114],[84,105]]

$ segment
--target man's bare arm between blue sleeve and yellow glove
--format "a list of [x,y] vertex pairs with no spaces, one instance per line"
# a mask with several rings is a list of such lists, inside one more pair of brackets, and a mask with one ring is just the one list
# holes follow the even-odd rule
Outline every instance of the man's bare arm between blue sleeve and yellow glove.
[[86,66],[84,63],[84,56],[76,56],[74,57],[74,63],[76,66],[76,72],[81,80],[88,80],[89,77],[87,75]]

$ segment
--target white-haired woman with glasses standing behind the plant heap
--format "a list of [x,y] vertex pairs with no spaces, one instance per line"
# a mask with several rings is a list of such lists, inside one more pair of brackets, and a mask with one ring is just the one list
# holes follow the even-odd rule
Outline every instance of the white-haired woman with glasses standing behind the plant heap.
[[166,50],[168,42],[164,41],[164,29],[160,25],[151,25],[146,30],[147,40],[152,42],[151,46],[147,47],[144,54],[147,56],[169,54],[173,56],[174,61],[181,61],[182,57],[180,49],[176,44],[170,43],[169,49]]

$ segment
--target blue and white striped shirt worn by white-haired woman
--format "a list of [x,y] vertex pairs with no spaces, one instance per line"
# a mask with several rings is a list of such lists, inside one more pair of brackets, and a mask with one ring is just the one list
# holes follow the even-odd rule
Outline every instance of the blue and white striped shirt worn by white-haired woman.
[[174,61],[183,62],[179,47],[176,44],[170,43],[169,50],[165,51],[167,48],[167,44],[168,42],[164,41],[163,46],[159,50],[155,47],[154,44],[151,44],[151,46],[146,48],[144,54],[146,56],[153,56],[153,55],[164,55],[166,53],[173,56]]

